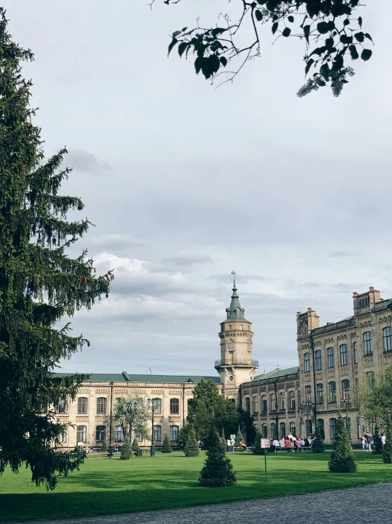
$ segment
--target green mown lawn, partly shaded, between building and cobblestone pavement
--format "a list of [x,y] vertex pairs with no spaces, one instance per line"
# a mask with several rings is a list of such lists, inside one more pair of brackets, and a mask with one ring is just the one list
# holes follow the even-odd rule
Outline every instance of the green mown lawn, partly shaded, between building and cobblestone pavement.
[[331,474],[329,452],[267,455],[267,481],[263,456],[230,456],[238,482],[229,488],[197,485],[204,453],[190,458],[174,452],[126,461],[86,459],[80,472],[60,478],[50,493],[31,484],[27,470],[19,475],[6,471],[0,478],[0,520],[131,513],[392,481],[392,466],[383,464],[380,456],[364,452],[356,456],[357,473]]

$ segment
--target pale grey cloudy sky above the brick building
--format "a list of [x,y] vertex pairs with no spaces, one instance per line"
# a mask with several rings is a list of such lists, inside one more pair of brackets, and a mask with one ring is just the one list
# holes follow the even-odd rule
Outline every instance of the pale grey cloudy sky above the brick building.
[[91,347],[64,371],[214,375],[233,269],[261,369],[296,365],[296,311],[324,324],[352,313],[353,291],[392,297],[391,1],[362,9],[374,56],[338,99],[298,99],[302,43],[268,31],[217,91],[167,58],[168,34],[234,4],[3,3],[35,52],[47,155],[67,145],[64,193],[96,225],[79,247],[115,268],[110,298],[73,319]]

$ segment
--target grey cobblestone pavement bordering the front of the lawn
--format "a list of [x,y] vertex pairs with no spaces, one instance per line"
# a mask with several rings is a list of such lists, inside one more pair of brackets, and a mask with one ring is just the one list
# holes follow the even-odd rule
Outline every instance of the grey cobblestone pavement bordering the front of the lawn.
[[310,524],[315,521],[390,524],[392,484],[126,515],[30,520],[29,524]]

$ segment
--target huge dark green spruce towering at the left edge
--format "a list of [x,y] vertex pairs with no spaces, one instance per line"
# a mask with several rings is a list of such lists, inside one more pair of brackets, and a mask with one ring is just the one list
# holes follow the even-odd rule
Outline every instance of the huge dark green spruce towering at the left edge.
[[0,8],[0,474],[25,464],[35,484],[54,489],[58,474],[82,462],[52,449],[67,429],[55,409],[74,400],[87,377],[52,372],[89,344],[71,336],[69,323],[57,326],[107,296],[113,276],[96,277],[86,251],[74,259],[66,254],[89,222],[67,221],[67,211],[81,211],[83,202],[59,194],[71,172],[59,170],[65,147],[44,161],[32,83],[21,75],[21,62],[32,61],[33,52],[12,42],[7,23]]

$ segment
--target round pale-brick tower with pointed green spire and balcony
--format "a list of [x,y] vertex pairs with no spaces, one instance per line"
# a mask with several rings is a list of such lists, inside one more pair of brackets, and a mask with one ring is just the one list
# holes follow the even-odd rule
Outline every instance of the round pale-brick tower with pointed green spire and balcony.
[[241,308],[234,274],[233,294],[226,320],[221,323],[221,359],[215,361],[215,369],[221,377],[222,393],[238,403],[240,384],[253,380],[258,361],[252,359],[252,323],[246,320]]

